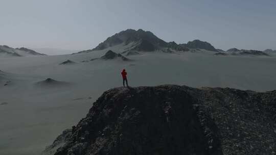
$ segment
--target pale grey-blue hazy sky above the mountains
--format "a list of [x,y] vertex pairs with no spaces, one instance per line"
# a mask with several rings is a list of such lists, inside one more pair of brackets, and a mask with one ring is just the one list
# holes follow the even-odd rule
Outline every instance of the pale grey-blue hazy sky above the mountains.
[[275,8],[275,0],[0,0],[0,45],[83,50],[143,29],[177,43],[276,49]]

